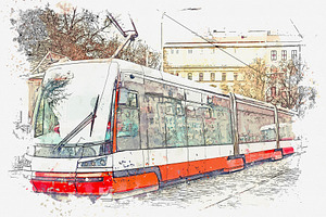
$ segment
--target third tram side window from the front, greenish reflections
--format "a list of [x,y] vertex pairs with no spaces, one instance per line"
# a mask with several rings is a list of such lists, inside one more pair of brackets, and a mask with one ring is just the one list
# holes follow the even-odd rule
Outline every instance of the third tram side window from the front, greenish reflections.
[[167,146],[186,145],[186,122],[181,101],[164,99]]

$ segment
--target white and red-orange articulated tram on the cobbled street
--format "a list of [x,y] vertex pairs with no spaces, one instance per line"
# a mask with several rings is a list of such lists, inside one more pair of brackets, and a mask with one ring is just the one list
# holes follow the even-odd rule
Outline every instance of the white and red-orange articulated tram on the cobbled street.
[[237,171],[292,154],[293,116],[123,60],[57,63],[34,111],[30,182],[39,193],[118,197]]

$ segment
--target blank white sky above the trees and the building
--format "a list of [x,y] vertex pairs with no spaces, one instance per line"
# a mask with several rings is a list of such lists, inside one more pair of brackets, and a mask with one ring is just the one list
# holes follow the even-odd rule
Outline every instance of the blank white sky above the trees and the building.
[[[26,9],[50,2],[55,8],[58,0],[27,0],[20,3],[10,3],[15,9]],[[166,12],[191,29],[203,34],[208,28],[213,29],[280,29],[294,34],[290,23],[294,22],[304,36],[325,34],[326,4],[324,1],[298,0],[91,0],[65,1],[73,7],[85,8],[100,12],[108,10],[113,14],[121,14],[126,26],[129,25],[128,14],[134,18],[139,31],[139,38],[146,40],[153,49],[160,48],[160,22],[162,12]],[[187,8],[201,8],[200,11],[181,11]],[[158,11],[159,10],[159,11]],[[164,23],[164,39],[184,38],[186,30],[168,21]],[[187,33],[187,36],[191,34]]]

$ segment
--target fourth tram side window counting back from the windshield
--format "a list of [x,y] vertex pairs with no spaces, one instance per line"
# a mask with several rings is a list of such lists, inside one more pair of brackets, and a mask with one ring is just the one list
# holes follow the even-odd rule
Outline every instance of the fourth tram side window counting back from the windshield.
[[188,145],[204,145],[203,115],[200,104],[188,103],[186,106]]

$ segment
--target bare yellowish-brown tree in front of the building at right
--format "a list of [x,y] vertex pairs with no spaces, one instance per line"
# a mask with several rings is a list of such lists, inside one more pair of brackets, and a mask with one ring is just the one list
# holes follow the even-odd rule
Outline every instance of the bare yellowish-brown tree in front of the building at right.
[[308,73],[303,68],[298,60],[267,67],[263,60],[256,59],[250,66],[239,71],[243,80],[235,81],[231,89],[222,85],[222,89],[294,110],[299,116],[303,116],[316,100],[314,84],[302,82]]

